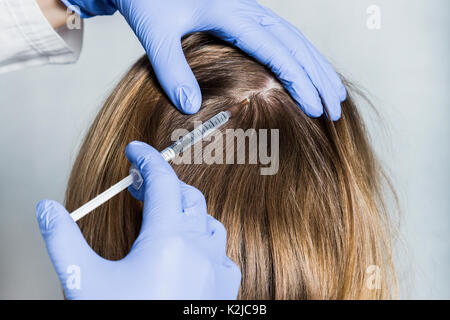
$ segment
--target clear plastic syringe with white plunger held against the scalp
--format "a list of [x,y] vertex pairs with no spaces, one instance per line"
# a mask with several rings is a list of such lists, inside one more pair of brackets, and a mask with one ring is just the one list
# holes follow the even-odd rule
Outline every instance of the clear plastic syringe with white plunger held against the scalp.
[[[167,147],[166,149],[161,151],[161,155],[163,156],[164,160],[173,160],[181,152],[186,151],[197,142],[209,136],[215,130],[219,129],[225,123],[227,123],[232,116],[236,115],[242,106],[245,106],[249,103],[250,100],[245,99],[238,105],[235,105],[226,111],[219,112],[217,115],[177,140],[170,147]],[[139,170],[135,166],[132,166],[130,168],[129,175],[126,178],[119,181],[106,191],[102,192],[94,199],[85,203],[77,210],[73,211],[70,216],[74,221],[78,221],[121,191],[127,189],[129,186],[132,186],[135,190],[139,190],[142,187],[143,183],[144,180],[142,179]]]

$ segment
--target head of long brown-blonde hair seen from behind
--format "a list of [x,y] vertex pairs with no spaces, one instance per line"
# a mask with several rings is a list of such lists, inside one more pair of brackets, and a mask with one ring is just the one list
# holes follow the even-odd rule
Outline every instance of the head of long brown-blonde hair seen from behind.
[[[186,37],[183,49],[202,89],[201,110],[179,113],[143,57],[91,126],[72,170],[67,209],[76,209],[127,174],[124,149],[130,141],[162,150],[177,129],[191,130],[195,121],[249,98],[220,130],[266,132],[268,154],[277,161],[274,174],[261,174],[267,163],[250,161],[250,138],[225,135],[220,141],[224,163],[198,161],[201,154],[194,152],[193,163],[173,165],[181,180],[203,192],[209,214],[225,225],[228,256],[242,272],[240,298],[391,297],[395,277],[383,176],[352,100],[342,104],[336,123],[326,116],[312,119],[270,71],[237,49],[201,34]],[[277,139],[271,140],[275,133]],[[215,159],[219,140],[212,142]],[[236,160],[242,150],[245,164],[229,164],[230,152]],[[79,225],[96,252],[120,259],[139,233],[141,210],[142,204],[124,192]]]

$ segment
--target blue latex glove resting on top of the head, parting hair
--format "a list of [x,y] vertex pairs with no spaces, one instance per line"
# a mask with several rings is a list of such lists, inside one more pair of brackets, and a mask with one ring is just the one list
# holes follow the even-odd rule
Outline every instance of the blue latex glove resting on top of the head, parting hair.
[[180,39],[209,32],[268,66],[311,117],[341,115],[346,90],[326,59],[293,25],[255,0],[62,0],[81,8],[82,17],[118,9],[144,46],[161,86],[179,110],[195,113],[199,85]]

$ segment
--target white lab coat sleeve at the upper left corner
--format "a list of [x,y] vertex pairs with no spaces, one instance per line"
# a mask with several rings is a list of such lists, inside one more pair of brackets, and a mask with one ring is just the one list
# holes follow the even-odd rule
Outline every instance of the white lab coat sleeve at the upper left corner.
[[0,73],[44,64],[73,63],[83,27],[54,30],[36,0],[0,0]]

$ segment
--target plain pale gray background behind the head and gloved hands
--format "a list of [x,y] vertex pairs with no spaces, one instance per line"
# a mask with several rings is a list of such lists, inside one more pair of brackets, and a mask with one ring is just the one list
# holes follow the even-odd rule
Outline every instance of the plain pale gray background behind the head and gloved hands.
[[[373,145],[400,196],[402,298],[450,298],[448,0],[266,0],[370,93]],[[368,30],[379,5],[381,30]],[[143,50],[119,16],[85,22],[75,65],[0,75],[0,298],[61,298],[35,221],[63,200],[102,101]]]

